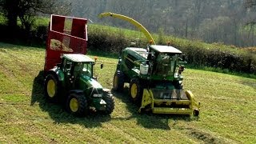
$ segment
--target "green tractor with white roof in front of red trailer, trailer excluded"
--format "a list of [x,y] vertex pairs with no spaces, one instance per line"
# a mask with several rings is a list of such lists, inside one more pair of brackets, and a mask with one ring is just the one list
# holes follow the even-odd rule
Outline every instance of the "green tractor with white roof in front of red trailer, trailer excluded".
[[[46,98],[64,102],[66,109],[82,116],[90,110],[111,114],[114,98],[94,78],[94,60],[84,54],[63,54],[62,62],[46,72]],[[103,65],[101,65],[102,67]]]

